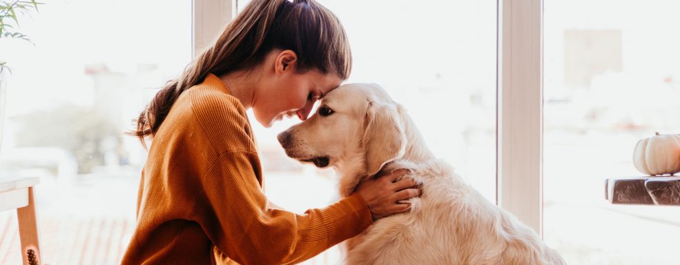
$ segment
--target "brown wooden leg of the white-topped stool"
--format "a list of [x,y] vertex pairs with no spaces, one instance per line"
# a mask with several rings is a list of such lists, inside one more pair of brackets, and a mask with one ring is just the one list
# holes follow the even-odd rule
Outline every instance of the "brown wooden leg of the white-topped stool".
[[39,265],[40,244],[38,242],[38,223],[35,217],[35,199],[33,187],[28,188],[28,206],[17,208],[19,219],[19,238],[21,239],[21,257],[23,264]]

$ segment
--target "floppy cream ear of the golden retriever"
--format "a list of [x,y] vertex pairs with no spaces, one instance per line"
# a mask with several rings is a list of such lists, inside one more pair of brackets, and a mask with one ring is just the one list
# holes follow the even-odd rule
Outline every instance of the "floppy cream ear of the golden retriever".
[[365,123],[366,170],[371,176],[404,155],[407,139],[397,104],[369,101]]

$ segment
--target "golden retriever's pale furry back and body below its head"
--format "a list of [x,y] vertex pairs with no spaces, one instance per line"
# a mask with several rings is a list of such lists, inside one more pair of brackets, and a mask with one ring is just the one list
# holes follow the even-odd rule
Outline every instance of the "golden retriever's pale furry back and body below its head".
[[396,161],[423,183],[410,213],[378,220],[351,239],[347,264],[563,264],[531,228],[498,208],[445,162]]

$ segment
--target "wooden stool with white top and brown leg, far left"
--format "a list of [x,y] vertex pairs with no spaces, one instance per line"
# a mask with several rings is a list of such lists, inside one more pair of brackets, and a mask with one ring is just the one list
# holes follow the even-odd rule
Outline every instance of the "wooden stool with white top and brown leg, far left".
[[17,209],[23,264],[41,264],[38,223],[35,217],[33,186],[38,177],[0,177],[0,210]]

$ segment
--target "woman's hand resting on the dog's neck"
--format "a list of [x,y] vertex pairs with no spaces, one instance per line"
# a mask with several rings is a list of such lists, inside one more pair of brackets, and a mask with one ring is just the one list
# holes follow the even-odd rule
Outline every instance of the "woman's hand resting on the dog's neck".
[[387,175],[367,179],[359,184],[356,193],[359,193],[368,204],[373,220],[411,209],[409,203],[398,203],[421,194],[418,183],[413,179],[406,178],[397,181],[407,172],[406,169],[392,170]]

